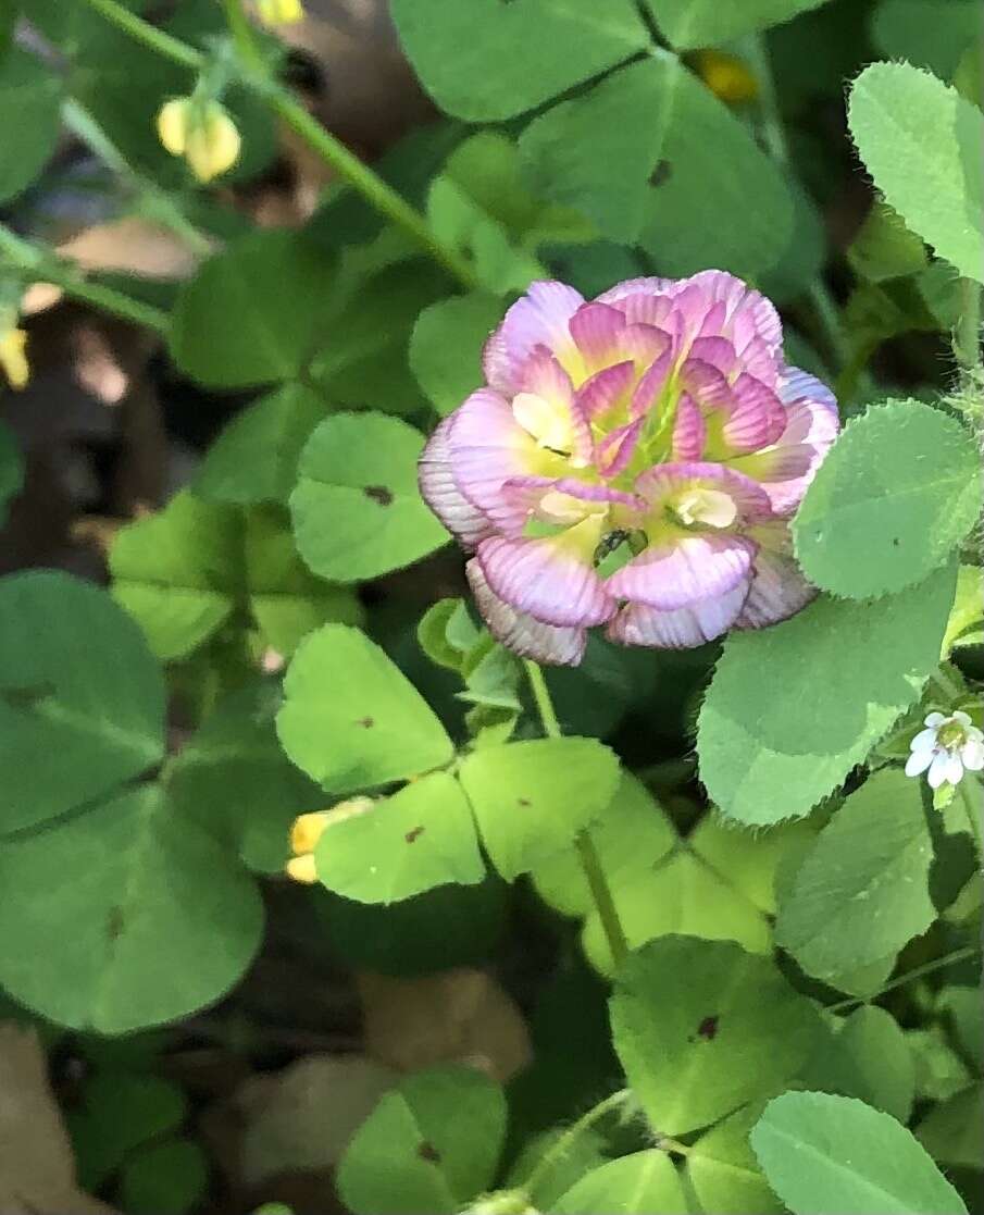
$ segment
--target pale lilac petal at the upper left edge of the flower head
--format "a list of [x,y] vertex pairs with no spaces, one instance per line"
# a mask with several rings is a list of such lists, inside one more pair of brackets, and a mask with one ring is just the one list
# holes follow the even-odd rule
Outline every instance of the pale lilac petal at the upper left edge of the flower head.
[[547,346],[558,357],[572,350],[567,322],[583,303],[584,296],[565,283],[531,283],[485,345],[482,368],[488,384],[513,396],[520,391],[520,373],[535,346]]

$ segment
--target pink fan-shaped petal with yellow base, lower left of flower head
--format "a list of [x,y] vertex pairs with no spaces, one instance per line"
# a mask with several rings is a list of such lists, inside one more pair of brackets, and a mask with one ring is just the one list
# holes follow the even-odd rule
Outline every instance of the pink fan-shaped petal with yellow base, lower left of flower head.
[[482,541],[476,555],[488,586],[516,611],[528,612],[544,625],[601,625],[616,604],[592,564],[600,527],[594,526],[594,520],[586,522],[594,535],[588,552],[570,539],[584,524],[539,539],[496,536]]

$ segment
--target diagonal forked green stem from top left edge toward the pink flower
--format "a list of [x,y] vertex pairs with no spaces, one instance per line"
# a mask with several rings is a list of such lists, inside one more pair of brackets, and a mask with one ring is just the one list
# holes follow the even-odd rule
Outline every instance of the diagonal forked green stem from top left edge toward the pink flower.
[[[165,34],[136,13],[124,9],[118,0],[85,0],[118,29],[185,67],[202,70],[208,60],[193,46]],[[403,228],[435,261],[473,290],[479,278],[470,264],[454,249],[447,248],[431,232],[426,220],[414,210],[378,174],[354,156],[344,143],[330,135],[317,119],[298,102],[293,94],[270,77],[266,63],[255,44],[239,0],[222,0],[226,21],[243,68],[242,84],[255,92],[273,109],[335,174],[356,190],[380,215]]]

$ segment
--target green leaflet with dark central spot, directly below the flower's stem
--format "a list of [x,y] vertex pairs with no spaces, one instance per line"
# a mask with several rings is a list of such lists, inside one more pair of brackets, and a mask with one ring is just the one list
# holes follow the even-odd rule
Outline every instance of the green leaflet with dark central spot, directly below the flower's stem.
[[610,1010],[615,1049],[651,1128],[674,1136],[776,1092],[820,1028],[811,1001],[770,959],[699,937],[662,937],[630,954]]

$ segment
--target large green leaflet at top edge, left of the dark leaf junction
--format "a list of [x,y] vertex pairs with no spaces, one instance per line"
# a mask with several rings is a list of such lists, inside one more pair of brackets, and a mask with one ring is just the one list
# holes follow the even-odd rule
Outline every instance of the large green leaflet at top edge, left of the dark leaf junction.
[[649,41],[632,0],[395,0],[392,16],[428,92],[473,123],[533,109]]

